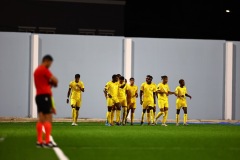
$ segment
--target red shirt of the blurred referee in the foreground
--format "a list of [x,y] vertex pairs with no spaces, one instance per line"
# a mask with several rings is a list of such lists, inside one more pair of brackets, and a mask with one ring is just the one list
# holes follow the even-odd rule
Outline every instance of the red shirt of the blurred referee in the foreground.
[[38,66],[38,68],[34,71],[34,83],[37,90],[37,95],[52,95],[51,85],[49,84],[51,77],[52,73],[43,65]]

